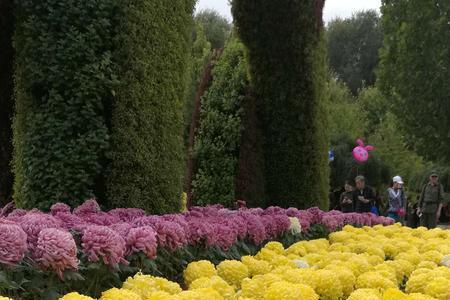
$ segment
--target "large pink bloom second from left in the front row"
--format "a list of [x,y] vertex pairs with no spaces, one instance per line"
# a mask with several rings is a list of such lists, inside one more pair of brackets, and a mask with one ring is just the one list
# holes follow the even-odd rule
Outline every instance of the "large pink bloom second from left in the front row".
[[78,268],[75,240],[60,229],[47,228],[39,233],[34,257],[44,270],[53,270],[60,278],[64,270]]

